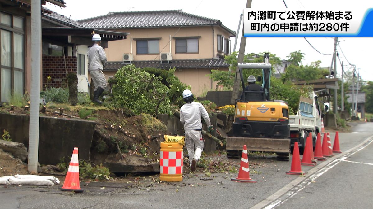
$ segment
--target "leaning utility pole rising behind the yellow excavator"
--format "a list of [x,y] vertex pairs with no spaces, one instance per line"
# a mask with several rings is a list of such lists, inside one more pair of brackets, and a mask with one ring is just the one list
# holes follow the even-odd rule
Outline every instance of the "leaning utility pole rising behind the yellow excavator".
[[[252,0],[247,0],[246,1],[246,8],[251,8],[251,1]],[[241,36],[241,43],[239,45],[237,63],[244,62],[245,46],[246,46],[246,37],[244,37],[244,28],[242,27],[242,36]],[[234,80],[234,83],[233,83],[231,104],[235,104],[235,99],[238,98],[238,92],[239,92],[239,85],[240,84],[241,84],[241,78],[239,76],[239,70],[238,70],[238,65],[237,65],[236,76],[235,76],[235,80]]]

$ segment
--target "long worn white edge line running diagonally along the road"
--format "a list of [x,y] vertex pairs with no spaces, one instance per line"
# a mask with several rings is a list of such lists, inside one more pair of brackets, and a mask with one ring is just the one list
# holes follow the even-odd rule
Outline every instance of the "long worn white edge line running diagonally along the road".
[[[313,173],[313,174],[311,176],[309,176],[307,179],[304,179],[304,180],[300,179],[300,178],[303,178],[303,177],[299,177],[299,178],[295,179],[294,181],[292,181],[291,183],[289,183],[288,185],[283,187],[283,189],[279,190],[275,194],[272,194],[267,199],[263,200],[262,202],[258,203],[257,205],[253,206],[252,208],[255,208],[255,209],[256,208],[263,208],[265,206],[264,207],[265,209],[272,209],[272,208],[275,208],[276,206],[286,202],[286,200],[288,200],[289,198],[291,198],[295,194],[299,193],[307,185],[314,182],[315,179],[322,176],[322,174],[324,174],[326,171],[330,170],[330,168],[334,167],[335,165],[337,165],[341,161],[345,161],[348,157],[350,157],[351,155],[360,151],[361,149],[364,149],[365,147],[367,147],[372,142],[373,142],[373,136],[370,136],[366,140],[364,140],[364,142],[362,142],[361,144],[355,146],[354,148],[349,149],[347,151],[347,153],[342,155],[341,157],[336,157],[333,160],[330,159],[332,161],[329,162],[324,167],[322,167],[320,170],[317,170],[318,166],[311,169],[308,173]],[[340,156],[340,155],[338,155],[338,156]],[[287,191],[283,192],[282,190],[287,190]],[[274,199],[274,198],[276,198],[276,199]]]

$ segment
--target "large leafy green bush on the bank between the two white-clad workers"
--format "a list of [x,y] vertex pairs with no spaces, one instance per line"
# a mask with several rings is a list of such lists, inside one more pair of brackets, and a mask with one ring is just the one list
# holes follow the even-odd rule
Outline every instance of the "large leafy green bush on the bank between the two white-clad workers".
[[159,77],[126,65],[112,78],[112,102],[114,106],[131,109],[135,114],[171,114],[169,88]]

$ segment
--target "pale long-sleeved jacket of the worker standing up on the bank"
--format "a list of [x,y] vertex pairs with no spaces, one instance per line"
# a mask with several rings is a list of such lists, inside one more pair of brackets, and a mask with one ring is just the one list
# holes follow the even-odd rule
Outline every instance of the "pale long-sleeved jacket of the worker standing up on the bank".
[[88,63],[90,64],[90,71],[103,70],[106,61],[107,59],[104,48],[98,44],[93,44],[93,46],[88,49]]

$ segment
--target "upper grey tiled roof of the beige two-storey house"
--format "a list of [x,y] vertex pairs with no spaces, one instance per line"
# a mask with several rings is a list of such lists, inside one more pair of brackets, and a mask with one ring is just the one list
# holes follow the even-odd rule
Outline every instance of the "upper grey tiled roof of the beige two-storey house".
[[220,20],[192,15],[182,10],[111,12],[78,21],[85,27],[110,29],[221,25],[228,32],[236,35],[234,31],[223,26]]

